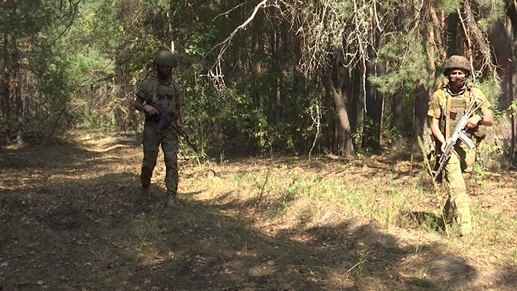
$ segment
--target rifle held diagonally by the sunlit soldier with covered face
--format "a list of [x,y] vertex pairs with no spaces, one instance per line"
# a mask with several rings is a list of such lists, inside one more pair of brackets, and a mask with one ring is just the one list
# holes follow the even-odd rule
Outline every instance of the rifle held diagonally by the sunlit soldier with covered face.
[[[481,101],[481,103],[479,103],[479,105],[476,108],[474,108],[474,106],[476,106],[476,101],[478,99]],[[461,117],[461,119],[458,121],[458,123],[456,123],[456,127],[454,127],[454,131],[451,133],[451,136],[449,137],[449,140],[447,140],[447,143],[445,143],[445,152],[440,153],[440,160],[438,161],[438,169],[436,171],[431,172],[434,181],[438,180],[441,172],[443,171],[443,168],[445,168],[445,165],[447,165],[447,162],[449,161],[451,150],[452,150],[452,148],[454,148],[454,145],[456,145],[456,142],[458,141],[458,139],[463,141],[470,149],[476,148],[476,145],[474,144],[474,142],[472,142],[472,139],[470,139],[467,136],[467,134],[465,134],[466,130],[463,130],[463,127],[465,127],[465,123],[467,122],[467,120],[470,117],[472,117],[472,114],[474,114],[474,112],[476,112],[476,110],[478,110],[481,107],[481,105],[483,105],[483,103],[485,103],[485,100],[476,96],[476,99],[474,99],[474,101],[472,101],[472,104],[470,105],[469,110],[467,110],[467,112],[465,112],[465,115],[463,115],[463,117]],[[449,110],[449,108],[447,108],[447,110]],[[451,114],[450,111],[448,114]]]

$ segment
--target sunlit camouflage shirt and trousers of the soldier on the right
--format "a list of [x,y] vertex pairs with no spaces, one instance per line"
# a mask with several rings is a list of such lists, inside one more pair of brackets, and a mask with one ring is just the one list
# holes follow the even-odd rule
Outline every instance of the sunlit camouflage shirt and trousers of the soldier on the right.
[[[429,103],[429,111],[427,114],[430,117],[440,119],[441,128],[443,128],[442,132],[445,135],[446,140],[449,138],[450,132],[454,130],[456,122],[461,119],[461,116],[464,114],[465,110],[468,109],[476,96],[485,100],[485,103],[483,103],[479,110],[480,112],[484,112],[490,107],[490,103],[486,101],[487,99],[485,94],[477,88],[465,90],[463,94],[455,95],[454,97],[450,92],[448,92],[447,86],[442,86],[434,92]],[[447,98],[451,99],[449,119],[447,119],[447,114],[445,113],[445,108],[447,108]],[[452,120],[452,116],[454,114],[451,111],[457,113],[454,120]],[[473,141],[474,143],[479,143],[480,140],[473,138]],[[452,223],[453,220],[458,223],[462,234],[469,234],[472,232],[467,188],[469,187],[469,181],[472,177],[472,172],[474,171],[475,161],[476,149],[469,149],[463,141],[458,140],[456,145],[454,145],[452,156],[450,157],[447,165],[445,165],[445,177],[450,188],[449,199],[447,199],[447,202],[445,203],[445,216],[447,223]]]

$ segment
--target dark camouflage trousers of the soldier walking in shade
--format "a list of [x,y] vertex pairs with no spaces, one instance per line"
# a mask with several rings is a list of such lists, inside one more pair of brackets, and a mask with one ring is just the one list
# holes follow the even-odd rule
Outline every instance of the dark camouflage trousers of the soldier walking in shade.
[[140,180],[143,187],[151,185],[152,171],[156,166],[156,158],[161,145],[165,159],[165,188],[168,194],[176,195],[178,191],[178,136],[172,126],[163,126],[156,132],[156,123],[146,121],[143,126],[143,165]]

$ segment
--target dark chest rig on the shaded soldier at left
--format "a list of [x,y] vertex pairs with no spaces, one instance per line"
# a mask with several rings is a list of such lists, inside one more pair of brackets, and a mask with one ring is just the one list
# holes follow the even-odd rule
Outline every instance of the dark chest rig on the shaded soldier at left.
[[153,78],[151,97],[154,103],[159,103],[167,110],[170,117],[174,119],[180,117],[179,92],[174,81],[165,84],[158,78]]

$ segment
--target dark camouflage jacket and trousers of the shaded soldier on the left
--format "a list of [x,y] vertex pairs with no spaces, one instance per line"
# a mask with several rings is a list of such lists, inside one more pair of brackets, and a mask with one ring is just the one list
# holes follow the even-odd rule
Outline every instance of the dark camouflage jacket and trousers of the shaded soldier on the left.
[[[152,98],[154,103],[159,103],[168,111],[170,117],[174,119],[181,118],[181,108],[185,106],[185,94],[180,84],[170,75],[167,79],[152,77],[145,79],[141,83],[140,90],[136,93],[136,97],[141,101]],[[160,132],[156,132],[156,126],[160,121],[159,115],[145,117],[143,126],[143,165],[140,175],[143,189],[148,189],[151,184],[152,172],[156,165],[156,157],[158,157],[159,146],[163,150],[165,159],[165,187],[168,190],[169,197],[176,197],[178,190],[178,136],[169,124],[165,123]]]

